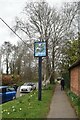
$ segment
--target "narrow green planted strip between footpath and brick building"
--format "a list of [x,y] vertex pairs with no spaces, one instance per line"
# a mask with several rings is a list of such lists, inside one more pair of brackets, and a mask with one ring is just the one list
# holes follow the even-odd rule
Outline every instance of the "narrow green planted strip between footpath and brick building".
[[80,118],[80,97],[75,95],[73,92],[68,91],[67,95],[71,101],[72,106],[75,108],[77,115]]

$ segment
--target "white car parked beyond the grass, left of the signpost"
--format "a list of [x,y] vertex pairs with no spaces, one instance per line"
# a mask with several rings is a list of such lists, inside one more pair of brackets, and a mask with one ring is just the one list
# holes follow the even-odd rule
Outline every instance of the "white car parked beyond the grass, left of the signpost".
[[24,83],[20,87],[20,92],[31,92],[34,89],[36,89],[36,86],[34,83]]

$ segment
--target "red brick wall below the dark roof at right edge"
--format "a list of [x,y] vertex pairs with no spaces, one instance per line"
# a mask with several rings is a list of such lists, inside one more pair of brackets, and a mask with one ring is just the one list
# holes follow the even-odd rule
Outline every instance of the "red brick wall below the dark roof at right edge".
[[70,83],[70,86],[71,86],[71,91],[74,92],[75,94],[79,95],[80,93],[80,80],[79,80],[79,77],[80,77],[80,67],[79,66],[76,66],[74,68],[71,69],[71,72],[70,72],[70,76],[71,76],[71,83]]

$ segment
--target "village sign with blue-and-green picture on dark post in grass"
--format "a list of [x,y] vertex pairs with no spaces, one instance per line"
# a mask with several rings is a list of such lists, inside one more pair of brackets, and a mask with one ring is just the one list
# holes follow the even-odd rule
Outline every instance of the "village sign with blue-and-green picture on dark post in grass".
[[39,57],[38,100],[42,100],[42,57],[46,57],[46,42],[34,42],[34,56]]

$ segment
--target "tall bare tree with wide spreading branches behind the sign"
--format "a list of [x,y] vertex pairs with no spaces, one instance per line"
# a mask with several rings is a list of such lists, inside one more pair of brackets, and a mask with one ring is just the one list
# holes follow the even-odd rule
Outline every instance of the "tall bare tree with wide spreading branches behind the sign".
[[26,3],[23,18],[16,18],[15,31],[23,31],[32,44],[36,40],[47,42],[45,69],[48,76],[52,75],[51,81],[54,79],[55,67],[60,60],[60,49],[64,46],[64,42],[76,35],[73,30],[76,25],[76,12],[76,3],[65,4],[60,12],[43,0]]

